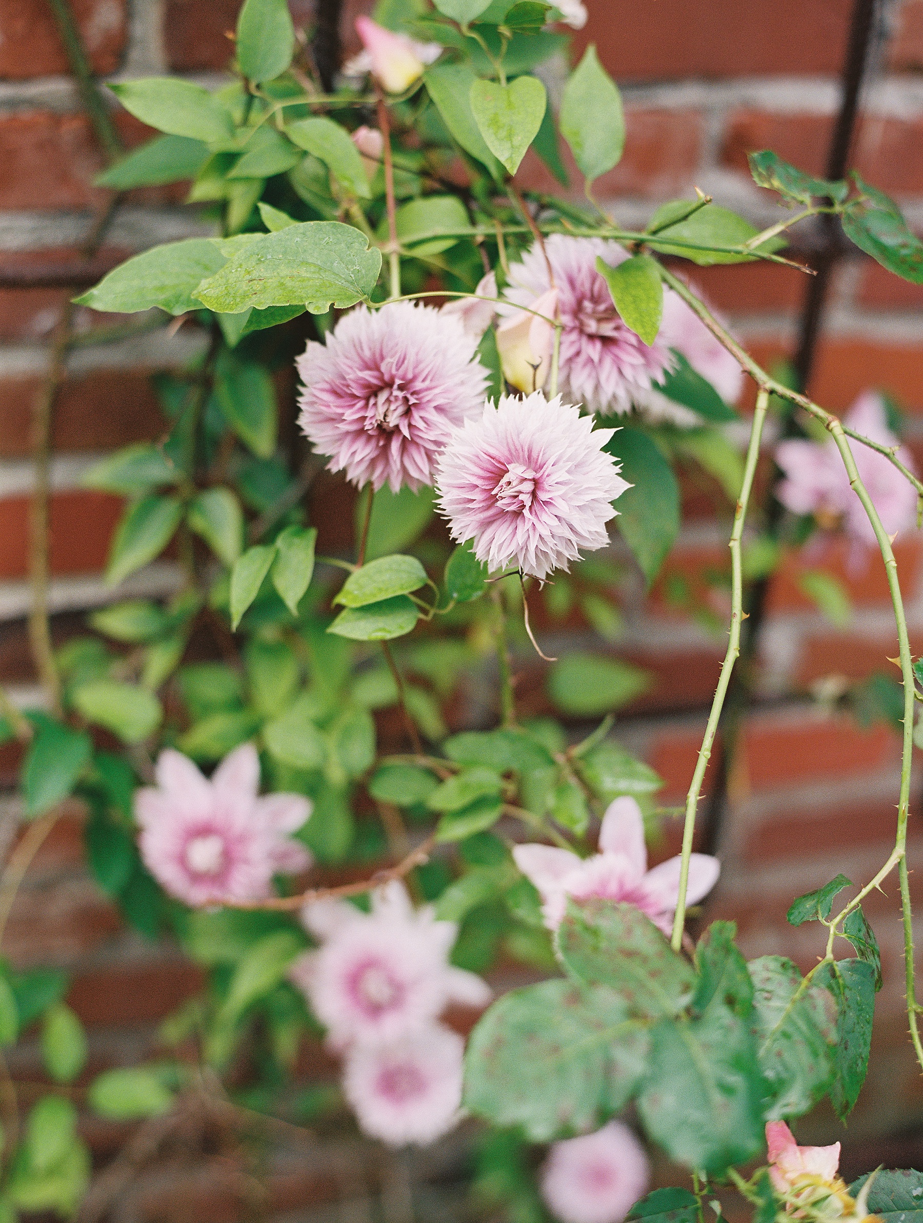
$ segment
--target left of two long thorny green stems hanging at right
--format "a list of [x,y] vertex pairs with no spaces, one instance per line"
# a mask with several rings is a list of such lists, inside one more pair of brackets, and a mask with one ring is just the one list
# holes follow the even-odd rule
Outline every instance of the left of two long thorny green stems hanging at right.
[[753,488],[753,477],[759,461],[759,444],[763,438],[763,426],[765,424],[767,410],[769,408],[769,391],[763,388],[757,396],[757,407],[753,413],[753,424],[749,432],[749,445],[747,446],[747,461],[743,468],[743,484],[741,495],[737,499],[737,509],[734,515],[734,528],[731,531],[731,629],[727,641],[727,652],[721,663],[721,674],[718,680],[712,712],[708,717],[705,735],[699,747],[696,770],[692,774],[688,794],[686,795],[686,822],[682,829],[682,859],[680,865],[680,893],[676,900],[676,916],[674,917],[672,949],[678,951],[682,947],[682,932],[686,925],[686,893],[689,882],[689,859],[692,855],[692,838],[696,832],[696,812],[702,796],[702,783],[705,778],[705,769],[712,756],[712,745],[718,731],[718,720],[721,715],[721,707],[731,681],[731,671],[741,652],[741,624],[743,621],[743,563],[741,559],[741,541],[743,538],[743,525],[747,519],[747,506],[749,494]]

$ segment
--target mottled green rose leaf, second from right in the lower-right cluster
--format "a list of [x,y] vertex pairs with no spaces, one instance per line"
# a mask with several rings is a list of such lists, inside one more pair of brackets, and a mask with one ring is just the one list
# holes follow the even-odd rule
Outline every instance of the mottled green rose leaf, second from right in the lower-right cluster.
[[803,986],[798,969],[779,955],[763,955],[748,967],[754,986],[751,1026],[770,1088],[767,1120],[801,1117],[834,1075],[834,999],[823,985]]

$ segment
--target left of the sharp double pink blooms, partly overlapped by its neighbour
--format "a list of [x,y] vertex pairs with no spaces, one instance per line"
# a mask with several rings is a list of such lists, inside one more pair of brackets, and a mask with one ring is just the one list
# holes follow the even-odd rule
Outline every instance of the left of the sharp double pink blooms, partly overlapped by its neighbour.
[[477,345],[430,306],[359,306],[298,357],[298,423],[353,484],[417,492],[433,483],[452,427],[480,415],[488,375]]

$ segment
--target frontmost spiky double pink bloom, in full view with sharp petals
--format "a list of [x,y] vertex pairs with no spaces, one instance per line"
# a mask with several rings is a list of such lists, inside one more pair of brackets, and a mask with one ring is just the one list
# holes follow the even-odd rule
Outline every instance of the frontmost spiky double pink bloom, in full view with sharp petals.
[[488,404],[439,460],[438,504],[452,538],[473,539],[493,571],[515,563],[538,578],[566,570],[581,548],[604,548],[611,503],[631,487],[603,450],[612,432],[542,391]]

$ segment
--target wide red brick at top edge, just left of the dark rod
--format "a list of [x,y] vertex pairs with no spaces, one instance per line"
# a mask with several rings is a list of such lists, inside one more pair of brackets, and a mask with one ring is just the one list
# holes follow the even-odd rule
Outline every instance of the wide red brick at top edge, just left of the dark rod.
[[576,53],[595,43],[621,81],[839,73],[850,0],[658,0],[638,20],[631,0],[589,0]]

